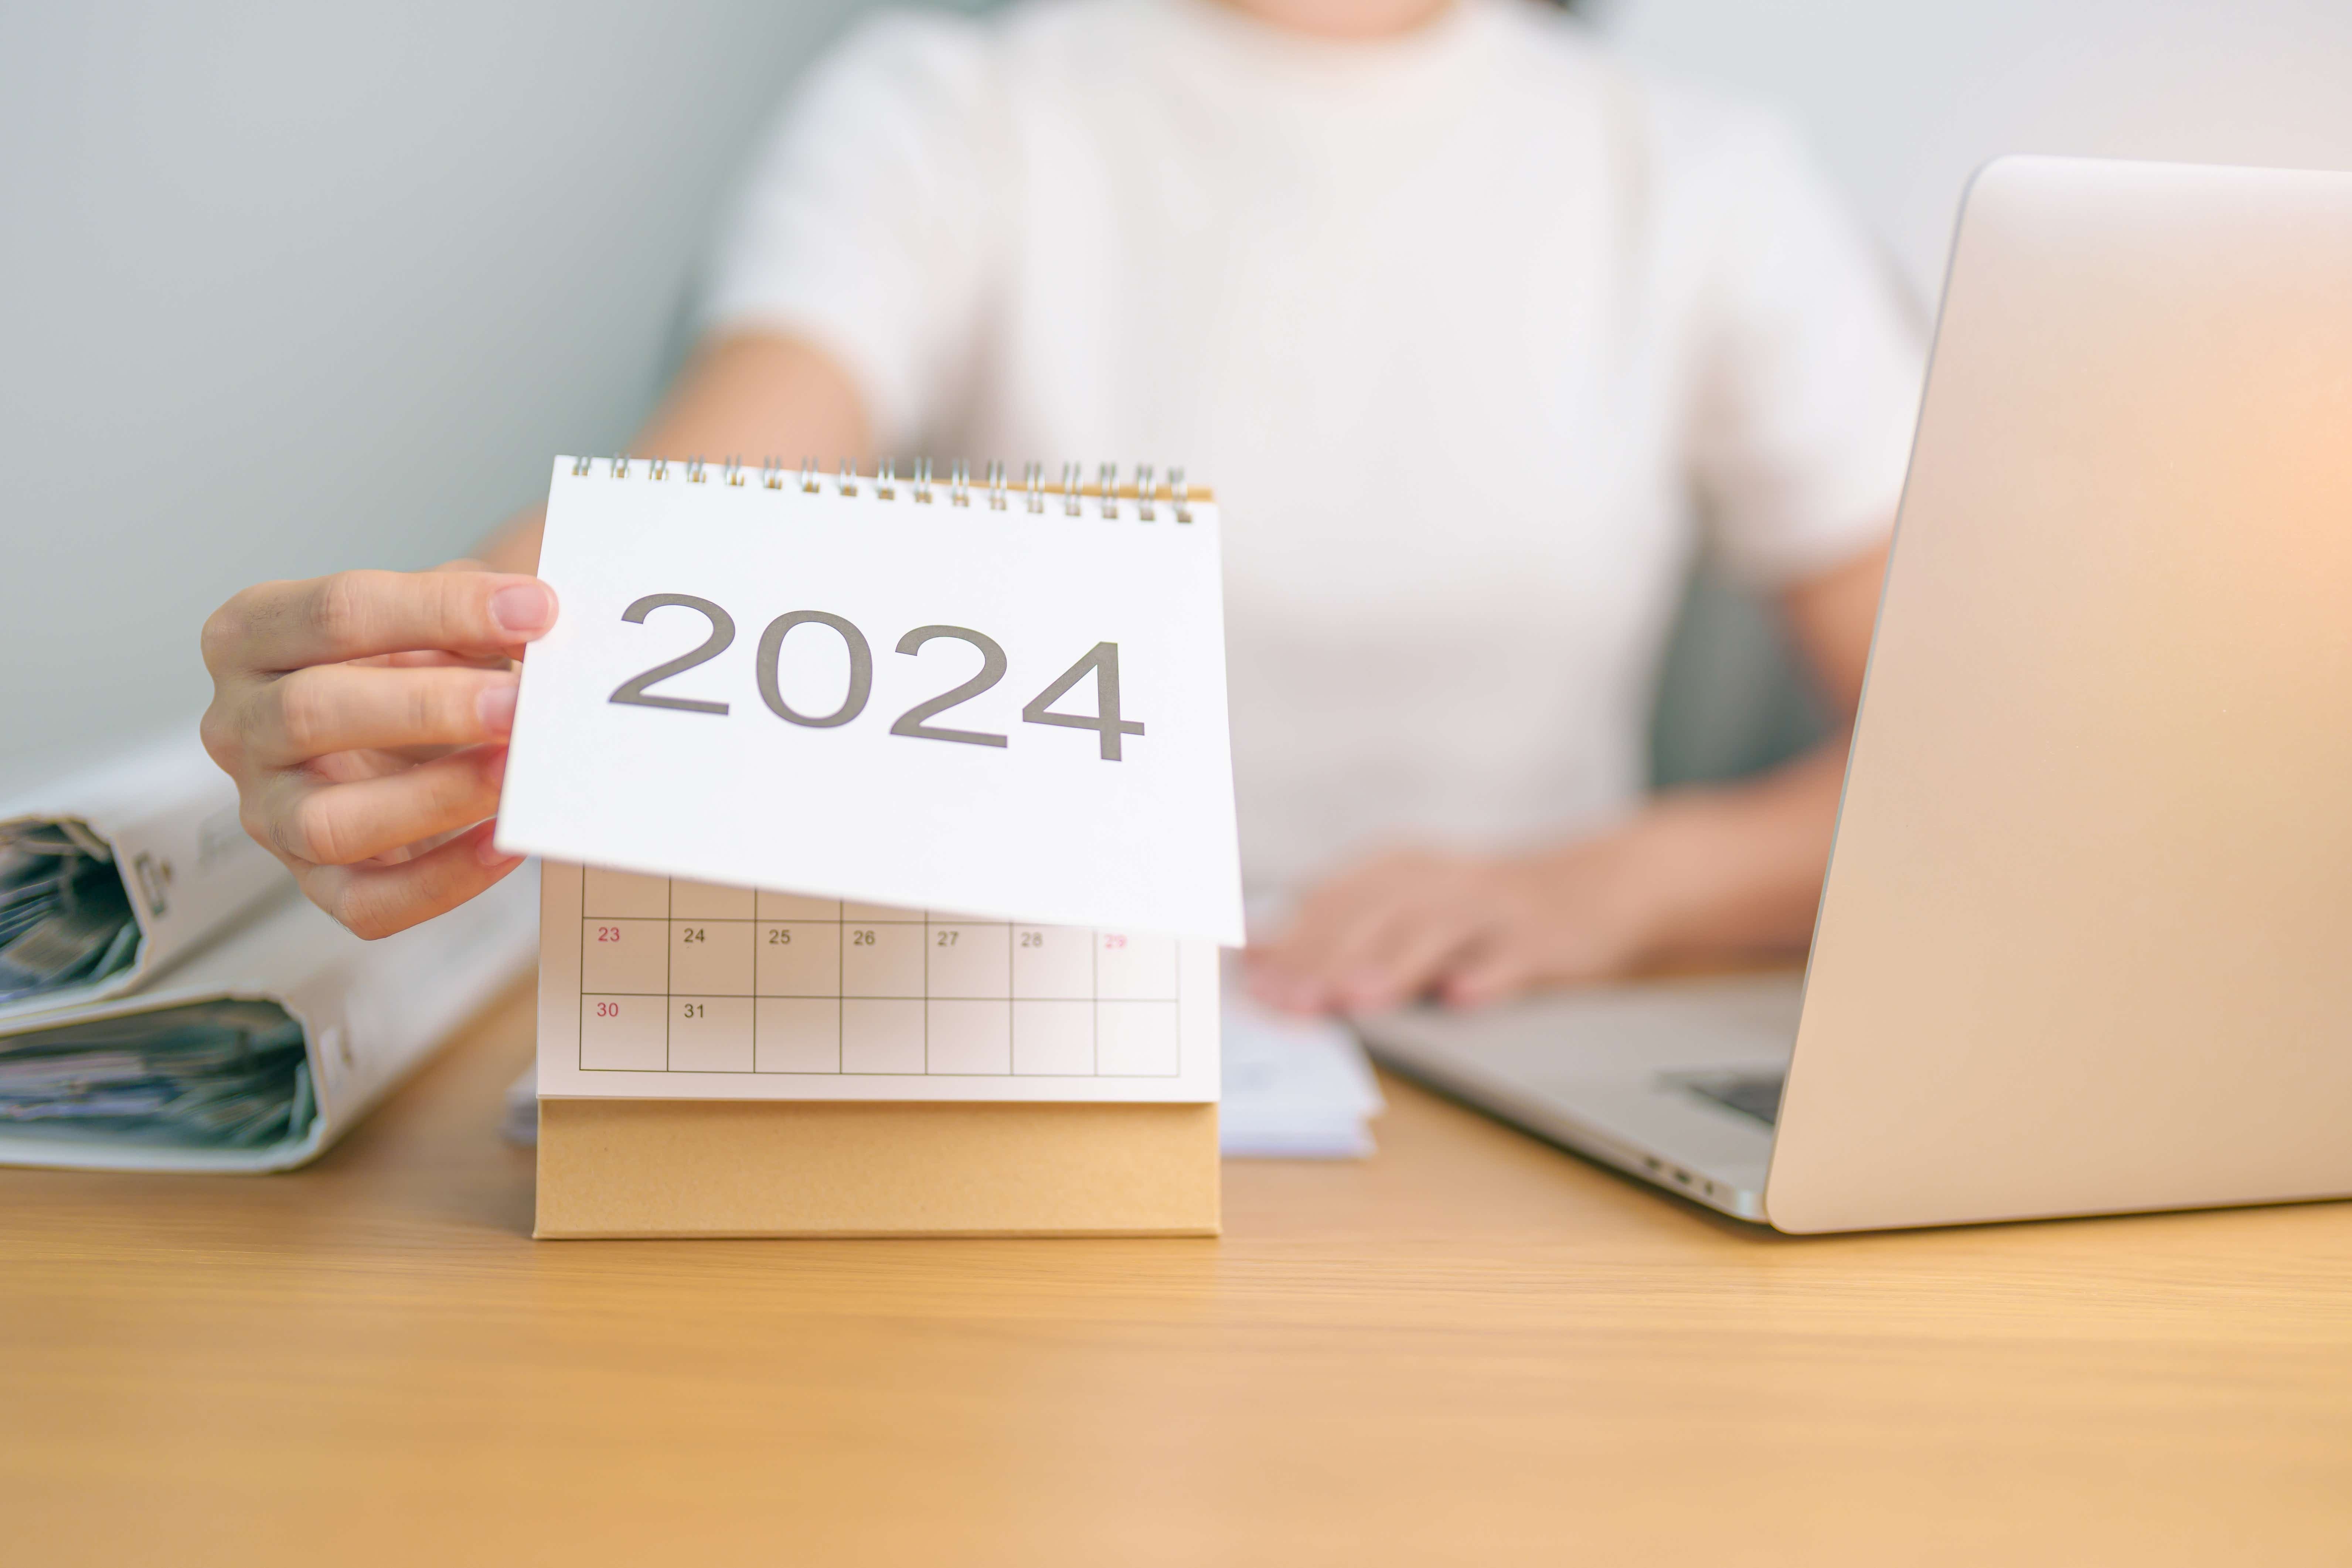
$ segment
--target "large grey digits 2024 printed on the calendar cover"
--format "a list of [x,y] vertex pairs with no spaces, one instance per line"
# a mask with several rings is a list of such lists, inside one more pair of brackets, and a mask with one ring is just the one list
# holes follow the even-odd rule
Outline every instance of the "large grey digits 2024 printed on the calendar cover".
[[[652,592],[621,611],[621,621],[630,625],[644,625],[644,618],[656,609],[691,609],[710,623],[710,635],[701,646],[680,654],[666,663],[654,665],[640,675],[630,675],[621,682],[612,698],[621,705],[635,708],[673,708],[677,712],[727,712],[727,703],[710,703],[703,698],[687,696],[659,696],[652,691],[654,684],[670,679],[673,675],[684,675],[696,665],[706,665],[734,644],[734,616],[713,604],[710,599],[696,599],[689,592]],[[849,651],[849,689],[842,693],[842,705],[823,715],[804,715],[783,701],[783,684],[776,677],[783,663],[783,639],[793,635],[800,625],[823,625],[842,639]],[[920,654],[922,644],[934,639],[969,642],[981,651],[981,672],[967,679],[962,686],[950,686],[938,696],[915,703],[889,726],[894,736],[910,736],[915,741],[955,741],[960,745],[1004,745],[1004,736],[995,736],[978,729],[946,729],[929,724],[929,719],[941,712],[969,703],[981,696],[1000,679],[1004,679],[1007,661],[1004,649],[988,632],[976,632],[967,625],[917,625],[913,632],[898,639],[901,654]],[[842,616],[826,614],[821,609],[795,609],[788,616],[776,616],[760,632],[760,654],[755,661],[755,672],[760,677],[760,701],[767,703],[769,712],[788,724],[800,724],[804,729],[837,729],[849,724],[861,712],[866,712],[866,698],[873,696],[875,684],[875,656],[873,646],[866,642],[866,632],[844,621]],[[1070,686],[1094,675],[1094,712],[1054,712]],[[1138,719],[1127,719],[1120,715],[1120,644],[1096,642],[1084,658],[1061,672],[1051,686],[1040,691],[1021,708],[1021,719],[1025,724],[1058,724],[1063,729],[1091,729],[1101,736],[1103,762],[1122,762],[1120,741],[1124,736],[1141,736],[1143,724]]]

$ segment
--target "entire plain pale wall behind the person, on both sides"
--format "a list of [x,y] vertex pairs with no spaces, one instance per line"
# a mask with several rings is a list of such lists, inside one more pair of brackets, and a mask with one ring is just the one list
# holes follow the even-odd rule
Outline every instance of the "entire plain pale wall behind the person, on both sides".
[[[193,717],[242,583],[461,552],[644,411],[856,0],[0,7],[0,773]],[[1597,0],[1933,296],[1997,150],[2352,169],[2347,0]]]

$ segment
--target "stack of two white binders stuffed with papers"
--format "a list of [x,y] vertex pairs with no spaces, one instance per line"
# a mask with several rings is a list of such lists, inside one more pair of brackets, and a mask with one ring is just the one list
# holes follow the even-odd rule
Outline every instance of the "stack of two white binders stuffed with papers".
[[0,804],[0,1164],[315,1157],[529,966],[534,884],[362,943],[193,738]]

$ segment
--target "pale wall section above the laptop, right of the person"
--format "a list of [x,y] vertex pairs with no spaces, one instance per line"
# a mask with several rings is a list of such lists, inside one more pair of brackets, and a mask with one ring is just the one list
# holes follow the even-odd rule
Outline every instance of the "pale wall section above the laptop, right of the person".
[[1776,101],[1933,301],[1997,153],[2352,169],[2352,0],[1592,0],[1639,61]]

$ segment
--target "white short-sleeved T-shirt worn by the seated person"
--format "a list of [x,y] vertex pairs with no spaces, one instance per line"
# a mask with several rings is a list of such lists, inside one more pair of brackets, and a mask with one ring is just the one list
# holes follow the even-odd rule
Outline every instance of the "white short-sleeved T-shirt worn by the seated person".
[[1214,0],[866,21],[706,327],[830,350],[891,454],[1216,487],[1261,893],[1628,811],[1703,527],[1762,585],[1875,545],[1919,390],[1790,134],[1531,0],[1381,42]]

